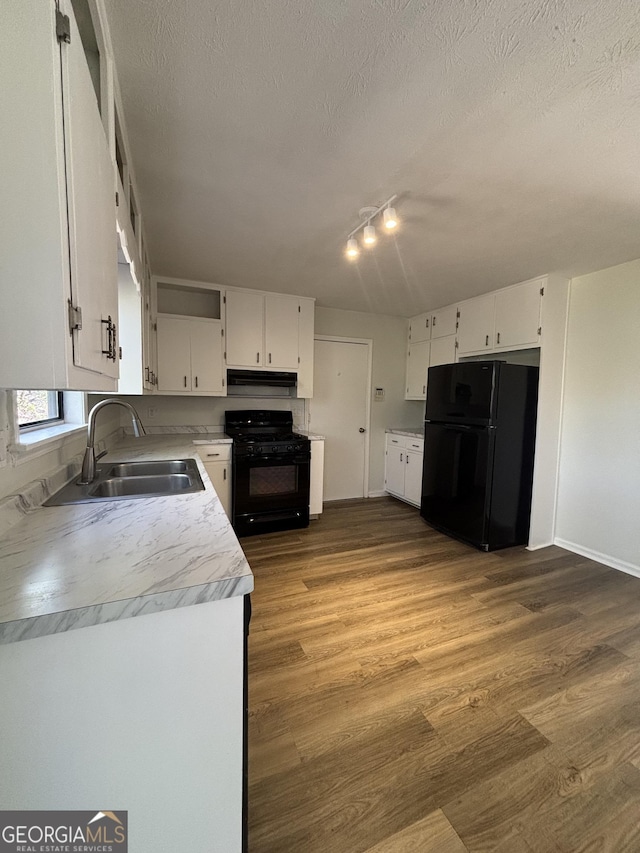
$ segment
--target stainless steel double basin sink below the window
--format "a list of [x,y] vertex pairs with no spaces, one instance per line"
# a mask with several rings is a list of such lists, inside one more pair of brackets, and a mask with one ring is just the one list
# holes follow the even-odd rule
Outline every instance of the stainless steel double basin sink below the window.
[[111,462],[96,466],[92,483],[80,484],[78,479],[67,483],[44,506],[166,497],[204,490],[195,459]]

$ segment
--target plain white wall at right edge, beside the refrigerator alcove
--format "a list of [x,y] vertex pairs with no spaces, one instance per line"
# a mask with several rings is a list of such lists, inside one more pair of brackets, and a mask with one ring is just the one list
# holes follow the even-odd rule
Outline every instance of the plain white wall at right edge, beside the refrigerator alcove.
[[640,260],[571,282],[556,543],[640,575]]

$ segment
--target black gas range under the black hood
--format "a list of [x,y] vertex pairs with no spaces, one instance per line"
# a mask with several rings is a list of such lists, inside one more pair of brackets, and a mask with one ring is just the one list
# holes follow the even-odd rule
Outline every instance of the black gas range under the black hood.
[[232,524],[238,536],[309,525],[311,443],[291,412],[225,412],[233,438]]

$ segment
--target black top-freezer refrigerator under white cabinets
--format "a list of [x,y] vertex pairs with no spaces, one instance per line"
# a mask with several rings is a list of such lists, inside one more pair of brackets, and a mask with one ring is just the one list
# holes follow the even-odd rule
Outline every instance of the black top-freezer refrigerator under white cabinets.
[[529,538],[538,368],[429,368],[420,514],[483,551]]

